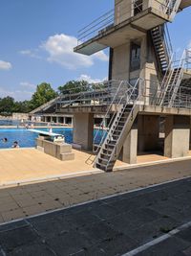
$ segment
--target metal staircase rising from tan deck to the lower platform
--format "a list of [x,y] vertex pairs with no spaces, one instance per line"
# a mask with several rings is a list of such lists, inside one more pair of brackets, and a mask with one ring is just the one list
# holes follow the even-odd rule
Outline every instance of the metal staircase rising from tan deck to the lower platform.
[[[126,90],[118,97],[120,88],[115,95],[117,109],[107,136],[101,140],[97,147],[98,154],[95,167],[105,172],[111,172],[122,149],[124,140],[132,128],[138,115],[138,82],[132,86],[128,83]],[[122,86],[123,84],[120,84]]]

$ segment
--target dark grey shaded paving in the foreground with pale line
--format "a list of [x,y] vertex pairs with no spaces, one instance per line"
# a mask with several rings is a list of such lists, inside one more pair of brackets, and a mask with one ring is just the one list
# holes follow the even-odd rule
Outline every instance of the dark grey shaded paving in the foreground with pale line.
[[187,178],[1,225],[0,255],[188,256],[190,221]]

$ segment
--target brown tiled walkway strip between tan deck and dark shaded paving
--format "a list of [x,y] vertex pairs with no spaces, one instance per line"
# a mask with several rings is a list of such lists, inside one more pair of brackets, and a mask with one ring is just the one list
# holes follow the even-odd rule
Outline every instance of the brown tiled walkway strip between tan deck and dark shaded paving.
[[0,222],[191,176],[191,160],[0,189]]

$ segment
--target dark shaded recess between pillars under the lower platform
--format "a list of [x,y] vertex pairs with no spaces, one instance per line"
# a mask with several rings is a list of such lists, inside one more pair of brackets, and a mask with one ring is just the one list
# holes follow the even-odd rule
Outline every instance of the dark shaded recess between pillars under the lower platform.
[[159,150],[159,116],[138,115],[138,151]]

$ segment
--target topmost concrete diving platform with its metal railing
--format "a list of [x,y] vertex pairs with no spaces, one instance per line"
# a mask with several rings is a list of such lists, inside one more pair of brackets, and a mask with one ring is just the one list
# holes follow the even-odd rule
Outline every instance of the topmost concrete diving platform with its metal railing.
[[78,32],[74,52],[90,56],[122,45],[127,38],[138,39],[151,29],[172,22],[177,12],[190,5],[190,0],[116,0],[114,10]]

